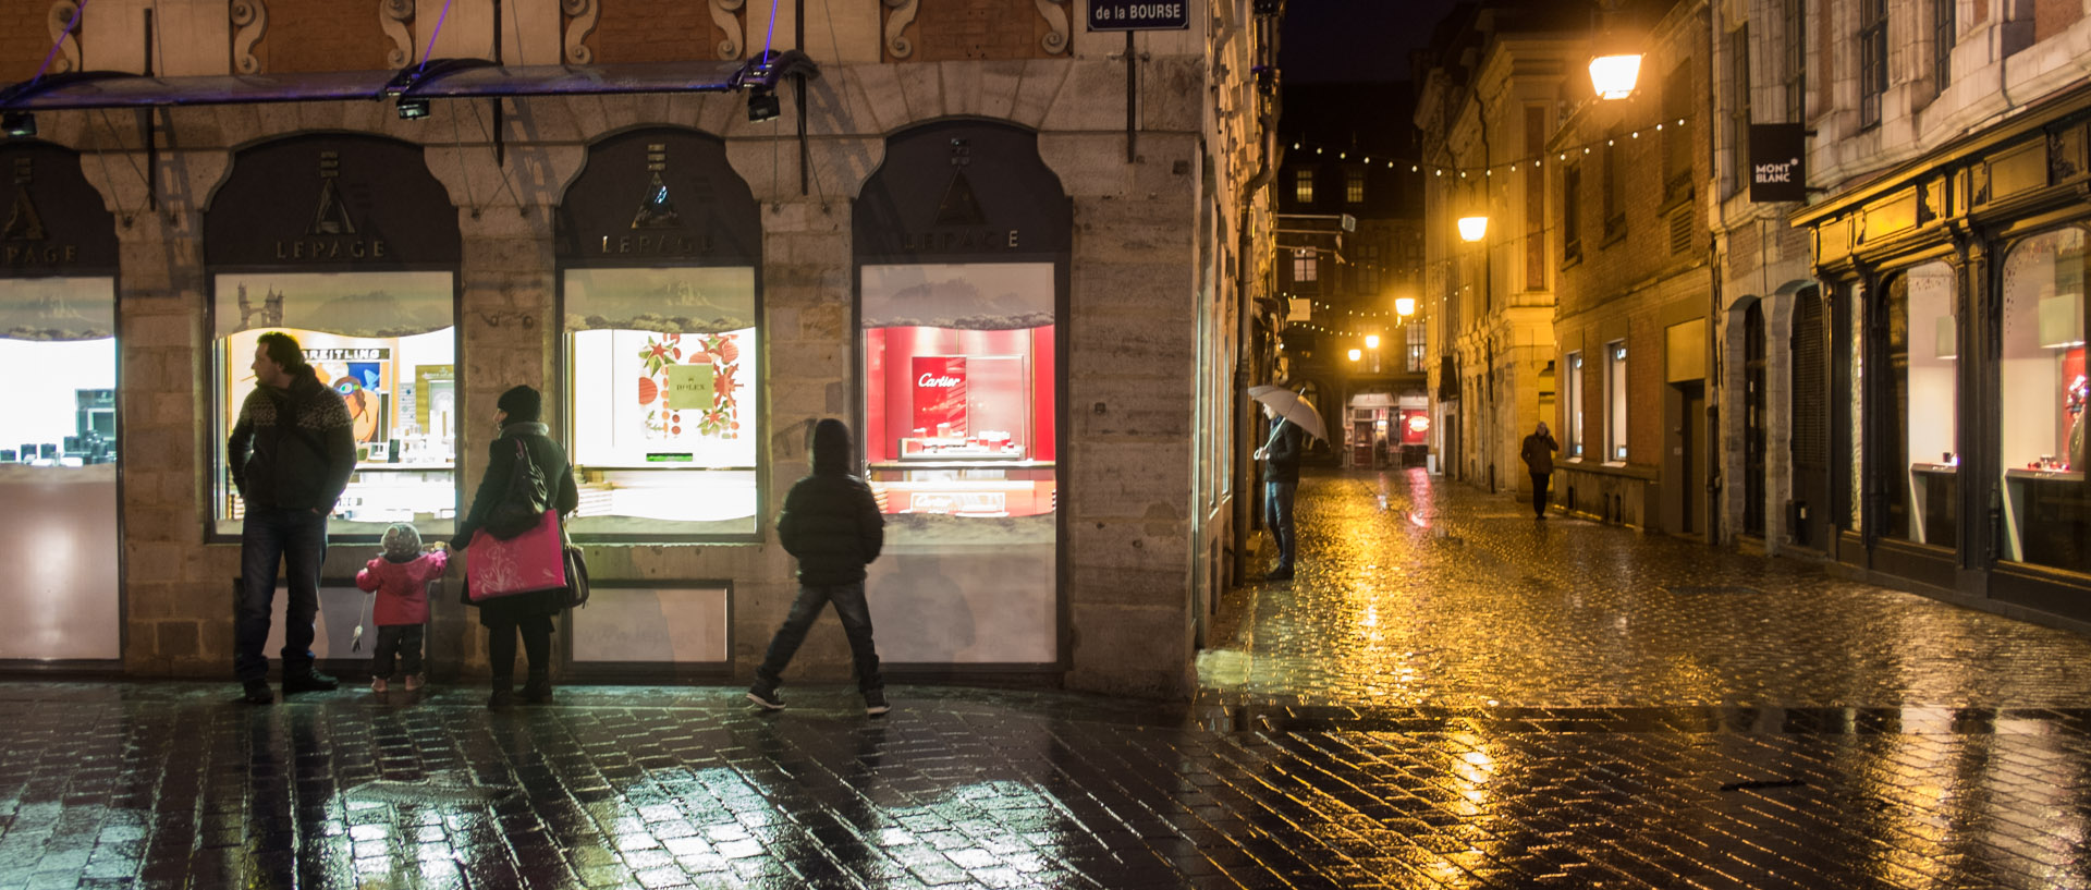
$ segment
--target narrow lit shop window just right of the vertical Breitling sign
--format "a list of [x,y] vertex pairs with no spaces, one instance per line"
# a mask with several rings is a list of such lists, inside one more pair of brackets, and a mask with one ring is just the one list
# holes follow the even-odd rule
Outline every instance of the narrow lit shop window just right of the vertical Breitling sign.
[[1955,374],[1959,326],[1953,267],[1928,263],[1888,282],[1888,372],[1882,384],[1897,428],[1882,441],[1886,535],[1953,547],[1957,535]]

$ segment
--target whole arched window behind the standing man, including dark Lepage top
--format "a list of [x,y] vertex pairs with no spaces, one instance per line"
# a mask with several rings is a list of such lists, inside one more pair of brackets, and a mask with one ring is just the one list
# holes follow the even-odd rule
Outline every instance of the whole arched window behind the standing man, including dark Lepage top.
[[355,424],[355,474],[328,535],[374,537],[391,522],[454,531],[458,211],[422,148],[328,134],[240,150],[203,236],[220,455],[213,531],[240,531],[245,503],[224,445],[255,387],[255,343],[272,330],[297,338]]

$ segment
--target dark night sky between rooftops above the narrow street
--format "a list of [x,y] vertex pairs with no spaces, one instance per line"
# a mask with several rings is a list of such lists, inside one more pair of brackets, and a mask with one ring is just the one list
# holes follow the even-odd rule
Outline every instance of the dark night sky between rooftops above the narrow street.
[[1278,67],[1286,84],[1409,79],[1409,52],[1430,44],[1457,0],[1290,0]]

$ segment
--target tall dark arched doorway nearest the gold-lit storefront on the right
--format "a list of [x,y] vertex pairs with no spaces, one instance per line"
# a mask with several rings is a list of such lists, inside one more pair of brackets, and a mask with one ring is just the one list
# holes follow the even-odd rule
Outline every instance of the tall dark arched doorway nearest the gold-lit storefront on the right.
[[1794,295],[1794,503],[1788,518],[1794,543],[1830,549],[1830,330],[1819,295],[1817,288]]

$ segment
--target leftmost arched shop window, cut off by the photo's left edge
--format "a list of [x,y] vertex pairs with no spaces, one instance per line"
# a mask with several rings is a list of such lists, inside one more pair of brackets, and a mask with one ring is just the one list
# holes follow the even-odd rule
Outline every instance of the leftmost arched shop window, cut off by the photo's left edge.
[[115,274],[79,157],[0,146],[0,660],[123,654]]

